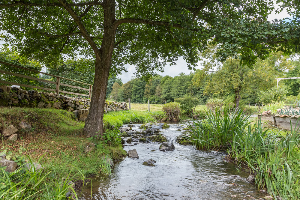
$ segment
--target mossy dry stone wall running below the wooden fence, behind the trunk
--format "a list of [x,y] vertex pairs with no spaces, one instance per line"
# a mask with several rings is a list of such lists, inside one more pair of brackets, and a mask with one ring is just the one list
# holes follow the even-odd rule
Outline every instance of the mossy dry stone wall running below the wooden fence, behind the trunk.
[[[26,91],[16,87],[0,86],[0,106],[64,109],[69,112],[74,111],[76,117],[84,121],[90,104],[91,100],[84,97],[68,97],[52,92]],[[128,110],[125,102],[105,102],[105,113],[121,110]]]

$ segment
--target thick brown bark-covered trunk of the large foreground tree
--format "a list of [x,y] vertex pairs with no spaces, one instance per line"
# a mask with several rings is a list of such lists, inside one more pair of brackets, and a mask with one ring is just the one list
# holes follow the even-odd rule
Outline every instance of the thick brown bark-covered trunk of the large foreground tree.
[[115,45],[116,27],[113,27],[115,18],[115,1],[104,1],[104,34],[100,50],[100,59],[96,57],[95,78],[91,106],[85,121],[83,132],[88,137],[103,135],[103,116],[106,98],[107,81],[112,64]]

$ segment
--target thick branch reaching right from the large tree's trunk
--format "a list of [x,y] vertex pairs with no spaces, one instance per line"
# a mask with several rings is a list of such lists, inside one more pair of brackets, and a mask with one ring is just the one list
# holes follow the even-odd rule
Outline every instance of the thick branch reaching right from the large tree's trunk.
[[[116,20],[113,25],[117,28],[120,24],[123,23],[134,23],[134,24],[149,24],[149,25],[157,25],[157,26],[172,26],[175,28],[183,28],[181,24],[172,24],[171,22],[165,21],[154,21],[154,20],[146,20],[146,19],[134,19],[134,18],[123,18]],[[199,31],[199,29],[190,29],[192,31]]]

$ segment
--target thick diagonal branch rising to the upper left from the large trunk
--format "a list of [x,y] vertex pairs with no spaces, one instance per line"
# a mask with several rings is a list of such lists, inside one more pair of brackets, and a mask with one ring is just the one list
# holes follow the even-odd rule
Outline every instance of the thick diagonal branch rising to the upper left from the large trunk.
[[78,28],[80,29],[82,36],[88,41],[88,43],[91,45],[91,48],[94,50],[96,54],[96,58],[101,60],[100,51],[97,45],[95,44],[91,36],[88,34],[88,31],[85,29],[85,26],[80,21],[80,18],[77,16],[75,11],[70,7],[69,4],[67,4],[66,0],[58,0],[58,1],[64,6],[64,8],[68,11],[68,13],[70,13],[70,15],[73,17],[74,22],[78,25]]

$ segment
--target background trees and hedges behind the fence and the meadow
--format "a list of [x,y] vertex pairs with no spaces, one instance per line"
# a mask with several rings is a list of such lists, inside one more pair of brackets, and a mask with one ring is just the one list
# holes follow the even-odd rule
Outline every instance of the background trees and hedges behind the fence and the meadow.
[[[108,80],[106,97],[110,100],[131,103],[163,104],[172,102],[176,98],[188,94],[199,99],[200,105],[205,105],[208,99],[219,99],[224,105],[255,105],[256,103],[267,104],[272,100],[285,100],[293,102],[299,99],[300,80],[282,80],[277,88],[276,78],[300,76],[299,55],[283,55],[282,52],[271,53],[265,60],[257,60],[251,67],[242,65],[239,58],[228,58],[223,63],[217,61],[214,47],[208,48],[202,54],[203,68],[190,72],[180,73],[178,76],[153,76],[150,79],[133,76],[130,81],[122,83],[120,78],[111,74]],[[27,59],[7,46],[0,49],[0,60],[13,64],[19,64],[35,70],[42,70],[43,65]],[[69,79],[93,84],[94,63],[88,59],[64,60],[46,66],[46,72],[63,76]],[[176,67],[176,66],[174,66]],[[28,71],[9,67],[1,64],[2,70],[28,75]],[[45,67],[44,67],[45,68]],[[53,77],[30,72],[30,76],[55,81]],[[25,83],[29,85],[40,85],[42,87],[55,88],[44,82],[28,80],[20,77],[2,74],[1,79]],[[32,82],[32,83],[31,83]],[[80,83],[62,80],[65,84],[86,87]],[[62,90],[79,92],[84,91],[76,88],[64,88]]]

